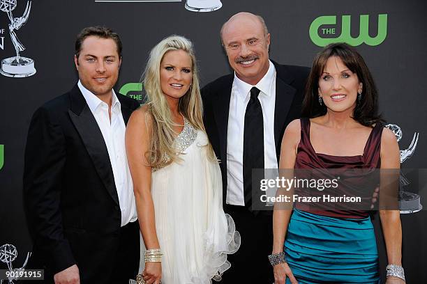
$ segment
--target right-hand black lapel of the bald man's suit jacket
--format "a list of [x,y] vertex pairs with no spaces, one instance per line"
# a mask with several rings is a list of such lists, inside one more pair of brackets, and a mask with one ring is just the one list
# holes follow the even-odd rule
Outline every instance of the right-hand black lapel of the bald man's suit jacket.
[[276,102],[274,106],[274,142],[276,144],[276,155],[280,155],[280,141],[285,128],[287,113],[290,110],[292,100],[297,90],[290,86],[293,77],[285,72],[282,66],[274,62],[276,67]]

